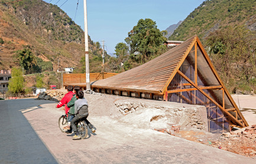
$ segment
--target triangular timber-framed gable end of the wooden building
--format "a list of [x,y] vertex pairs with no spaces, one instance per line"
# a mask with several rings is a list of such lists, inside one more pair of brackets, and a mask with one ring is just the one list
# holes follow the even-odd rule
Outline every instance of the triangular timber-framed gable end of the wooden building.
[[[196,51],[195,51],[196,50]],[[193,66],[194,66],[194,73],[195,76],[193,76],[193,79],[191,80],[189,77],[187,77],[180,69],[184,63],[187,62],[187,58],[189,55],[193,55]],[[198,58],[197,58],[198,57]],[[198,63],[200,62],[200,63]],[[202,74],[200,74],[199,68],[202,67],[202,65],[208,65],[208,76],[209,76],[209,84],[208,86],[199,86],[197,82],[200,81],[200,77],[202,77]],[[184,69],[183,69],[184,70]],[[201,69],[202,70],[202,69]],[[202,71],[201,71],[202,72]],[[217,71],[215,70],[215,67],[213,66],[212,62],[210,61],[210,58],[208,54],[205,51],[205,48],[203,48],[202,43],[200,42],[199,38],[195,36],[194,40],[190,44],[190,46],[187,48],[186,53],[184,53],[182,60],[180,60],[179,64],[177,64],[177,67],[174,69],[173,74],[171,74],[171,77],[168,79],[166,85],[163,88],[164,99],[168,99],[168,93],[174,93],[175,91],[169,90],[168,86],[171,84],[171,81],[173,81],[174,76],[176,74],[179,74],[179,76],[183,77],[186,81],[189,81],[189,83],[192,85],[192,87],[195,87],[200,93],[203,94],[203,96],[207,97],[212,103],[216,105],[219,109],[221,109],[223,115],[228,118],[226,121],[229,122],[229,125],[231,127],[237,126],[237,127],[245,127],[248,126],[247,121],[244,119],[244,116],[242,116],[241,111],[239,111],[238,107],[236,106],[234,100],[232,99],[231,95],[229,94],[228,90],[226,89],[225,85],[223,84],[221,78],[219,77]],[[199,76],[200,75],[200,76]],[[206,76],[206,74],[203,74],[203,76]],[[198,78],[198,80],[197,80]],[[189,89],[188,89],[189,90]],[[178,90],[177,90],[178,91]],[[217,96],[216,96],[217,95]],[[219,99],[216,99],[218,97]],[[226,105],[228,104],[228,105]],[[228,107],[228,108],[227,108]]]

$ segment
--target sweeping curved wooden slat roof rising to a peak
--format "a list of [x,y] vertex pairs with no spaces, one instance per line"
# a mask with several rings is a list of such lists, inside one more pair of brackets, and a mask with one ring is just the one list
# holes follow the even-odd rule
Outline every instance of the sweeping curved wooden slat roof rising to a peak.
[[195,35],[189,38],[177,47],[136,68],[113,77],[95,81],[92,83],[92,87],[161,94],[184,54],[189,53],[187,51],[190,51],[196,37]]

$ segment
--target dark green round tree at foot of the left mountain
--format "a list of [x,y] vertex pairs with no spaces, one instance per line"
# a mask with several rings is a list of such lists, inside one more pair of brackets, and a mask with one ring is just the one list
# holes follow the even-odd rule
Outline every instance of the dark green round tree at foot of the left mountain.
[[16,51],[14,59],[16,63],[19,63],[22,68],[28,71],[32,71],[33,66],[37,63],[35,60],[35,56],[28,48]]

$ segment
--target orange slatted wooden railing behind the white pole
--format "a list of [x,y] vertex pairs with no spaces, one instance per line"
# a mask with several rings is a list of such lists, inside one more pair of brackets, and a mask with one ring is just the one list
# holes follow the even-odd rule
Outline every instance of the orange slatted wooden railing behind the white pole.
[[[118,73],[90,73],[90,83],[96,80],[115,76]],[[63,85],[86,84],[85,74],[63,74]]]

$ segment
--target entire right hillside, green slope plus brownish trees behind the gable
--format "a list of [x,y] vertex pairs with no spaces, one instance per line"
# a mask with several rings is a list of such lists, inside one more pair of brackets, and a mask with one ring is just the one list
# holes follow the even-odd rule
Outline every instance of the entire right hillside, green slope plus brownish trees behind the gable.
[[187,16],[168,38],[197,34],[232,93],[256,93],[256,1],[211,0]]

